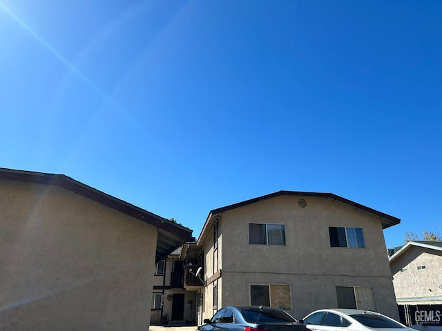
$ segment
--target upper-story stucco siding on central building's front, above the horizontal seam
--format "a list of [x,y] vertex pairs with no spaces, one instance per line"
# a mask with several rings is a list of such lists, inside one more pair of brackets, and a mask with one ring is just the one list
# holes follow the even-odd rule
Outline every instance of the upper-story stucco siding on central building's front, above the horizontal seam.
[[[307,206],[300,208],[298,199],[282,196],[224,212],[223,270],[291,273],[302,265],[307,274],[391,275],[376,217],[320,198],[305,198]],[[249,245],[249,223],[284,224],[286,244]],[[363,228],[365,248],[330,247],[329,226]]]

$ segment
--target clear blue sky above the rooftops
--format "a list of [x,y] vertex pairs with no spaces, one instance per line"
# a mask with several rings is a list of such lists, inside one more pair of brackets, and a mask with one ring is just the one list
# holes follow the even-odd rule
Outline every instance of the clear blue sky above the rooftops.
[[439,0],[0,0],[0,166],[195,237],[278,190],[400,218],[387,247],[441,234],[441,17]]

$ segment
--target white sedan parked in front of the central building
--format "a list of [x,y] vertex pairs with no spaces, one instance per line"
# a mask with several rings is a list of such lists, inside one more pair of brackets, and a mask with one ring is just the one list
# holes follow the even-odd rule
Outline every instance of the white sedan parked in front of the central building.
[[313,331],[415,331],[378,312],[321,309],[300,320]]

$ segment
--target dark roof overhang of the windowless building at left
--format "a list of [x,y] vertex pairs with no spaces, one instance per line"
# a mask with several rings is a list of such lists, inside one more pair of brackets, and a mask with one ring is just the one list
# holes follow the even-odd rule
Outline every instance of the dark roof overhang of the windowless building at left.
[[185,228],[175,222],[164,219],[147,210],[131,205],[126,201],[112,197],[109,194],[95,190],[84,183],[75,181],[64,174],[47,174],[44,172],[30,172],[23,170],[12,170],[0,168],[0,180],[21,181],[26,183],[37,183],[42,185],[57,185],[76,194],[80,194],[109,208],[118,210],[128,216],[151,224],[157,228],[157,249],[155,262],[164,259],[170,252],[180,247],[191,239],[192,230]]

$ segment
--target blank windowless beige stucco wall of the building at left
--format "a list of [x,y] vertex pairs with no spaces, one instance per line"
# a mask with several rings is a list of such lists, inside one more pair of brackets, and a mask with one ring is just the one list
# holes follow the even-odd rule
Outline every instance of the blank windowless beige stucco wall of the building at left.
[[0,330],[147,330],[155,227],[52,185],[0,210]]

